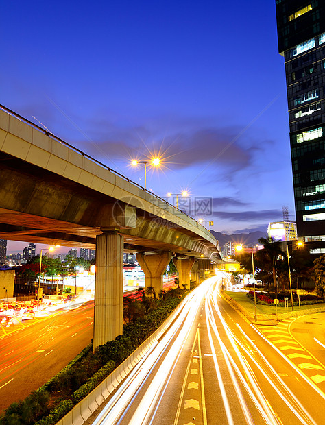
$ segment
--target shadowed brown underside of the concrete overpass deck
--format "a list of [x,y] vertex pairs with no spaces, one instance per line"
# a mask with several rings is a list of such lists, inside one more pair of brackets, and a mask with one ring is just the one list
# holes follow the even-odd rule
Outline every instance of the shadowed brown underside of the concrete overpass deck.
[[197,234],[125,202],[0,152],[0,239],[95,248],[102,228],[124,236],[129,252],[175,252],[210,257],[217,249]]

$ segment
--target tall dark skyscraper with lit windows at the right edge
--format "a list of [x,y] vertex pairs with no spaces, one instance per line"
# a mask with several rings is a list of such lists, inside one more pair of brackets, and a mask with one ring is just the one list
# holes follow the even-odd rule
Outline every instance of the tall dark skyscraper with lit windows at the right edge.
[[325,3],[276,0],[298,237],[325,252]]

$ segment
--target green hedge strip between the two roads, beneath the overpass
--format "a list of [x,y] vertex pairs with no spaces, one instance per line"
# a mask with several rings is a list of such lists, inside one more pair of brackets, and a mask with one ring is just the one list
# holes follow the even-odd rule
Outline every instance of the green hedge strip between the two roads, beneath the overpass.
[[[25,400],[12,403],[0,417],[1,425],[53,425],[74,404],[92,391],[117,365],[136,350],[180,303],[186,291],[172,289],[175,296],[157,300],[157,308],[135,323],[123,326],[123,335],[101,345],[95,353],[87,345],[73,361]],[[95,373],[94,373],[95,372]]]

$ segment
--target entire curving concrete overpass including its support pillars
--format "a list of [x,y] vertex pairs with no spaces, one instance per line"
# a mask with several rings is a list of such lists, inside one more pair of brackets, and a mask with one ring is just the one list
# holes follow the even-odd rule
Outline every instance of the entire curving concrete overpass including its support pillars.
[[4,106],[0,181],[0,239],[96,247],[95,347],[122,333],[123,251],[156,292],[172,256],[186,286],[220,259],[199,222]]

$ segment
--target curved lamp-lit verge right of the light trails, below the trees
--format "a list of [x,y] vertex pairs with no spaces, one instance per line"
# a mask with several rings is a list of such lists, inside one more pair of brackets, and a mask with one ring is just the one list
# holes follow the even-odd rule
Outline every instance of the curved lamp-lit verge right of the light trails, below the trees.
[[233,308],[239,310],[248,320],[257,325],[274,325],[289,317],[325,312],[325,302],[324,304],[300,306],[300,309],[299,306],[293,306],[293,311],[291,305],[289,305],[289,308],[276,308],[276,306],[256,304],[257,318],[254,321],[254,302],[246,296],[245,292],[222,291],[221,295]]

